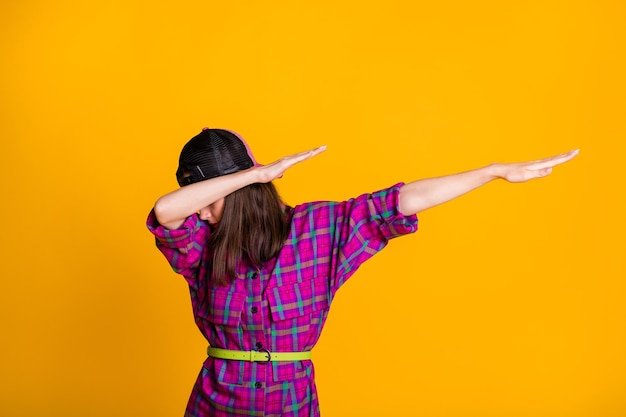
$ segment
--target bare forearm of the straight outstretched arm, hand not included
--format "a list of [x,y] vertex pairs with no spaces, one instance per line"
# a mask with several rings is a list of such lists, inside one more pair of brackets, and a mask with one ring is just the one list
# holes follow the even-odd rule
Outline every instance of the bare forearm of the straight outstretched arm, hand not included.
[[400,190],[399,209],[407,216],[419,213],[500,177],[497,165],[492,164],[458,174],[413,181]]

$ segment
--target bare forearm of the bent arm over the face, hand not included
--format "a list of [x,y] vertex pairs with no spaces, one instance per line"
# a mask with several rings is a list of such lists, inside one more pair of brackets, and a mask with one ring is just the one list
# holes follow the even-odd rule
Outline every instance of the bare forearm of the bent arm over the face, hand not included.
[[180,227],[193,213],[247,185],[258,182],[254,169],[186,185],[159,198],[154,214],[168,229]]

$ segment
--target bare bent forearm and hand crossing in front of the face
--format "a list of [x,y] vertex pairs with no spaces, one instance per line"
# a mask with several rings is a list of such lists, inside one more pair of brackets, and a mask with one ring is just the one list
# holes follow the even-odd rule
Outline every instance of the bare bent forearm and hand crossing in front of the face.
[[269,165],[258,165],[245,171],[186,185],[159,198],[154,204],[157,220],[168,229],[178,229],[185,219],[247,185],[270,182],[283,176],[293,165],[323,152],[326,146],[286,156]]

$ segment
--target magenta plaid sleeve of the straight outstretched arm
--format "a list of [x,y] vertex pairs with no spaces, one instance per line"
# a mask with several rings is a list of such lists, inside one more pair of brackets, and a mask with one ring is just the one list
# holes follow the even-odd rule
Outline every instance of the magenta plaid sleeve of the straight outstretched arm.
[[336,292],[357,268],[381,251],[390,239],[417,230],[417,215],[398,209],[399,183],[390,188],[339,203],[335,217],[331,291]]

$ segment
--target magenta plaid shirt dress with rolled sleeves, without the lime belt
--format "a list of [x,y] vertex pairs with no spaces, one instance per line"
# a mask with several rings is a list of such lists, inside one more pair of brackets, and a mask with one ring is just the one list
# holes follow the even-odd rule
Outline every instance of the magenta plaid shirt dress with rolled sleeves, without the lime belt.
[[[288,207],[291,230],[279,255],[238,265],[237,279],[205,279],[212,254],[209,225],[192,215],[177,230],[147,225],[174,271],[189,284],[196,324],[214,347],[308,351],[315,346],[337,290],[393,237],[417,230],[398,212],[402,184],[345,202]],[[209,274],[210,275],[210,274]],[[257,364],[207,358],[185,416],[319,416],[311,361]]]

